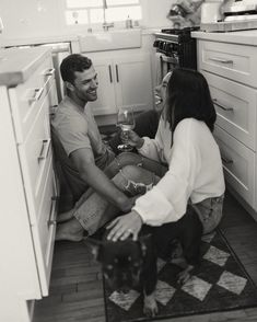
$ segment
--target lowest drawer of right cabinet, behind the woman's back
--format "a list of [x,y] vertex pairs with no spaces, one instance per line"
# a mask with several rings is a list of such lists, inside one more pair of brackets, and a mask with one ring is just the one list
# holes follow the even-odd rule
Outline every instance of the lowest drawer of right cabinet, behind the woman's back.
[[254,208],[255,153],[215,126],[214,137],[221,150],[226,181]]

